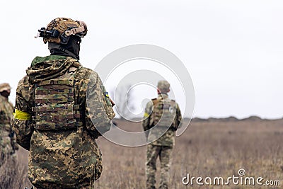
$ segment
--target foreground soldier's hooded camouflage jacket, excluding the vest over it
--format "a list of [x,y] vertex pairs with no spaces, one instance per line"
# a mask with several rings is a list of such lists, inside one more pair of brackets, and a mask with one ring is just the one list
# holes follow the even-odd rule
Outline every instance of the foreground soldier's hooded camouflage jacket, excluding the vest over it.
[[[35,57],[18,83],[16,111],[33,116],[35,85],[58,78],[67,71],[74,75],[74,99],[83,122],[77,130],[42,131],[35,121],[14,115],[13,130],[17,142],[30,150],[28,177],[39,188],[83,188],[92,186],[102,171],[101,154],[96,144],[100,132],[110,130],[115,116],[98,74],[71,57],[50,55]],[[88,100],[87,100],[88,99]],[[100,132],[98,132],[98,130]]]

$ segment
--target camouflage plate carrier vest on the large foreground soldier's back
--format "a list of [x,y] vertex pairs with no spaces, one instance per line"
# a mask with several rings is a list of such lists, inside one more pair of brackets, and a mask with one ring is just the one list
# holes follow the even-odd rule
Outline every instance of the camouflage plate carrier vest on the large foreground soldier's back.
[[36,130],[72,130],[82,125],[79,105],[75,103],[75,73],[67,71],[64,76],[35,85],[32,110]]

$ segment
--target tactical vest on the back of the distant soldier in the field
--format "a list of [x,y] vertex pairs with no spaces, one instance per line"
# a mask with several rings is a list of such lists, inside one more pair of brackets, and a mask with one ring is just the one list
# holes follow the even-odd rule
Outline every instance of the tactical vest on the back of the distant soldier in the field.
[[154,98],[151,101],[154,105],[149,125],[151,125],[151,127],[155,125],[161,127],[176,127],[175,114],[177,108],[175,101],[169,98]]

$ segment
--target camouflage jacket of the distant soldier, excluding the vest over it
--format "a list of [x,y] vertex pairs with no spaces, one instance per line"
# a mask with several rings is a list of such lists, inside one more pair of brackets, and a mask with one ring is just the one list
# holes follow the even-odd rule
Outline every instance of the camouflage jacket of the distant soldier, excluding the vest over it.
[[[161,98],[168,98],[167,94],[158,94],[157,100],[161,99]],[[153,99],[154,101],[155,99]],[[151,127],[154,127],[154,125],[151,125],[151,118],[152,115],[152,111],[154,108],[154,103],[153,101],[149,101],[149,103],[146,104],[146,109],[145,109],[145,113],[144,113],[144,121],[142,122],[142,126],[144,127],[144,130],[149,130],[151,129]],[[168,127],[154,127],[154,130],[151,130],[149,132],[149,136],[148,136],[148,141],[151,142],[152,145],[156,145],[156,146],[166,146],[166,147],[173,147],[175,145],[175,129],[174,127],[178,127],[178,125],[180,124],[180,121],[182,120],[182,115],[180,113],[180,108],[178,103],[176,104],[176,112],[175,112],[175,120],[173,121],[173,125],[171,125],[168,129]],[[175,124],[175,125],[174,125]],[[168,130],[167,130],[168,129]],[[166,131],[167,130],[167,131]],[[164,134],[163,134],[164,133]],[[161,136],[160,138],[158,138],[159,136]],[[157,139],[158,138],[158,139]]]

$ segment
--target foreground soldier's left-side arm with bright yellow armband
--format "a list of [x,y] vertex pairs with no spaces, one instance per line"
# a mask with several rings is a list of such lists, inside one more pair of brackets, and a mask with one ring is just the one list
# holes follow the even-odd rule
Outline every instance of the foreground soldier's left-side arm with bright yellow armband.
[[13,131],[16,133],[17,143],[24,149],[30,149],[30,138],[33,134],[33,122],[31,120],[31,107],[28,104],[30,91],[27,79],[22,79],[16,91],[15,113],[11,121]]

